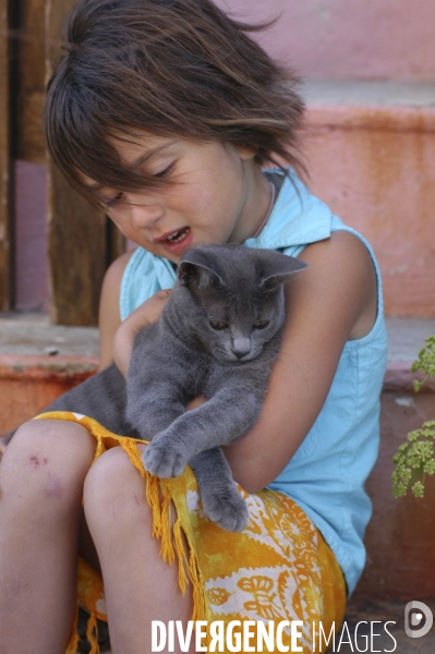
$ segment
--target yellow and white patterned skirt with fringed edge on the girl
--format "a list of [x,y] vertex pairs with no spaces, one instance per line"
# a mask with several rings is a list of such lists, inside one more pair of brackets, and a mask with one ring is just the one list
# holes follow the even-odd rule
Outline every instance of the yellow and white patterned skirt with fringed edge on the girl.
[[[136,443],[143,441],[117,436],[77,413],[51,412],[37,416],[41,417],[85,426],[96,439],[94,460],[111,447],[126,451],[144,477],[146,498],[153,509],[153,535],[161,542],[160,554],[169,565],[178,565],[181,592],[192,585],[192,620],[205,620],[208,626],[219,620],[225,632],[232,620],[263,621],[266,626],[269,620],[275,625],[288,620],[290,627],[285,627],[281,641],[290,652],[291,622],[301,620],[302,635],[297,643],[303,647],[303,654],[313,651],[314,623],[322,622],[328,634],[335,622],[338,631],[346,608],[343,574],[318,530],[292,499],[275,491],[249,495],[239,488],[247,502],[249,523],[241,533],[227,532],[204,517],[197,484],[189,467],[179,477],[158,480],[143,468],[136,447]],[[169,529],[171,500],[177,511],[172,530]],[[188,557],[182,533],[189,546]],[[104,585],[100,576],[83,559],[78,559],[77,568],[77,611],[78,606],[90,615],[87,626],[90,654],[98,654],[97,618],[107,620]],[[208,632],[204,646],[210,638]],[[250,645],[254,642],[256,639]],[[75,654],[77,643],[74,625],[67,654]],[[326,646],[322,651],[325,650]],[[264,646],[263,651],[270,650]]]

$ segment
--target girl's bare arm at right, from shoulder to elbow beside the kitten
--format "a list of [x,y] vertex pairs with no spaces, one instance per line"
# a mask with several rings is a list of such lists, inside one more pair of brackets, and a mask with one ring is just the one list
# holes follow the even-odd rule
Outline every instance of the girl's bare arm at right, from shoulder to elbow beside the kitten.
[[310,264],[286,284],[287,318],[280,354],[256,424],[225,448],[234,480],[253,493],[287,465],[326,400],[349,339],[376,319],[376,277],[370,254],[339,231],[309,245]]

